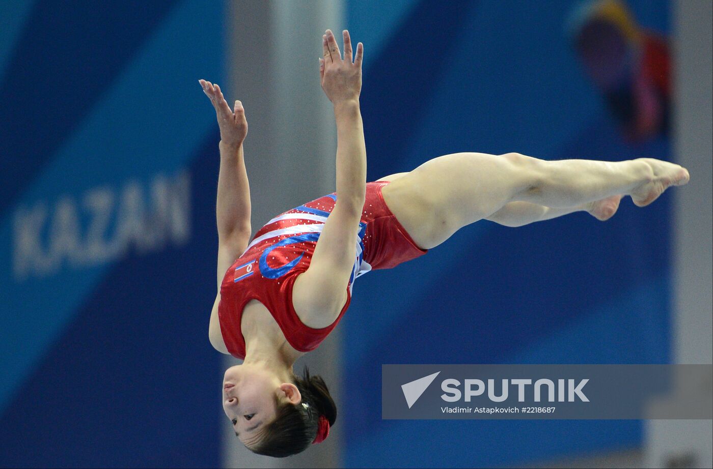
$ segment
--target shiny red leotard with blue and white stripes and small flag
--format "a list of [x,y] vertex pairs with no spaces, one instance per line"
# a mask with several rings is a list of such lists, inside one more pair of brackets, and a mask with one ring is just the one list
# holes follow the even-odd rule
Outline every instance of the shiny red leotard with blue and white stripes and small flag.
[[427,250],[416,246],[409,233],[384,202],[381,188],[389,181],[366,184],[366,200],[358,231],[354,230],[356,258],[349,278],[347,302],[332,325],[314,329],[302,324],[292,305],[292,285],[309,268],[319,233],[334,209],[335,193],[288,210],[255,233],[242,255],[225,273],[220,285],[218,317],[228,352],[245,359],[245,338],[240,330],[242,310],[248,301],[259,300],[279,325],[294,349],[309,352],[332,332],[352,300],[355,278],[369,270],[399,265]]

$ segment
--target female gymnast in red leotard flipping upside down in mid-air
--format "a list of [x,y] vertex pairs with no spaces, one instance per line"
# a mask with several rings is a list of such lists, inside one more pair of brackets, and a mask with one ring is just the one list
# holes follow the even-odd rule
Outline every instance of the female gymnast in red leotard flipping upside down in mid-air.
[[588,211],[603,221],[623,196],[645,206],[689,179],[686,169],[657,159],[545,161],[463,152],[367,183],[359,112],[364,46],[357,44],[352,60],[349,33],[343,36],[342,57],[327,30],[319,59],[337,121],[336,192],[272,218],[252,240],[245,110],[240,101],[231,110],[218,85],[199,80],[220,127],[210,342],[243,360],[225,371],[222,405],[240,441],[264,455],[299,453],[334,425],[337,407],[322,378],[307,369],[296,376],[292,366],[337,325],[359,275],[423,255],[483,218],[523,226]]

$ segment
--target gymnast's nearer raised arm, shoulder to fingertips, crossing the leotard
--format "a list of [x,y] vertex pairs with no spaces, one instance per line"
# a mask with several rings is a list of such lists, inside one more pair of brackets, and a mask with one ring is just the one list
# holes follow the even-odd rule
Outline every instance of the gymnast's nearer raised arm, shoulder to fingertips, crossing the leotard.
[[[332,31],[322,36],[319,59],[322,89],[337,121],[337,201],[324,223],[307,272],[295,280],[292,302],[303,312],[309,327],[334,322],[347,300],[347,285],[354,268],[356,235],[366,194],[366,146],[359,111],[361,60],[364,46],[356,46],[352,61],[349,32],[343,31],[344,58]],[[297,284],[300,288],[297,288]]]

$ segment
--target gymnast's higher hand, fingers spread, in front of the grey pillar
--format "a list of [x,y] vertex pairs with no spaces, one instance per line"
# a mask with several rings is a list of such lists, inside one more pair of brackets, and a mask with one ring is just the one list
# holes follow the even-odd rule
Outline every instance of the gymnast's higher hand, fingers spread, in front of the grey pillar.
[[356,45],[356,56],[352,62],[352,40],[349,31],[342,32],[344,36],[344,59],[337,46],[337,40],[332,31],[322,36],[324,58],[319,59],[319,78],[322,80],[322,90],[333,104],[346,100],[359,100],[361,93],[361,58],[364,56],[364,44]]

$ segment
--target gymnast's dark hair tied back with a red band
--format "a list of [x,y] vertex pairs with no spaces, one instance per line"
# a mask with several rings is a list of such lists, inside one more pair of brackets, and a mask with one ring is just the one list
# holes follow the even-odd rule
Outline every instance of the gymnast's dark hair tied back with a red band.
[[294,385],[299,389],[302,401],[299,404],[277,404],[275,420],[265,428],[264,436],[257,445],[247,449],[257,454],[284,458],[302,453],[312,444],[317,436],[319,416],[324,415],[329,426],[334,425],[337,405],[329,395],[322,376],[309,376],[309,369],[305,366],[302,378],[294,375]]

